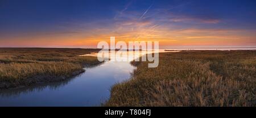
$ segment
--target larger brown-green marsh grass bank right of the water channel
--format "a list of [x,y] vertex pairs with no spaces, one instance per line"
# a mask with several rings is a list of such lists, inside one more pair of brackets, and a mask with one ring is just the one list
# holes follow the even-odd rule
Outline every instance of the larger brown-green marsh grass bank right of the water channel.
[[256,106],[256,51],[160,53],[112,87],[105,106]]

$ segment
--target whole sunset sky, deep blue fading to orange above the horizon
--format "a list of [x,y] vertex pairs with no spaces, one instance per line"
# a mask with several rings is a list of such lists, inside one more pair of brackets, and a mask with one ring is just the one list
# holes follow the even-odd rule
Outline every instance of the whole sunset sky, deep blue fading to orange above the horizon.
[[255,0],[0,0],[0,47],[256,47]]

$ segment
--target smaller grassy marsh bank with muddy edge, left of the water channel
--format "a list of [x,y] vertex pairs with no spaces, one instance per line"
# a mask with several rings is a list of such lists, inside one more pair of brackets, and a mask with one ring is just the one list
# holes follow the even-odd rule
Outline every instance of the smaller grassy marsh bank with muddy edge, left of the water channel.
[[99,64],[97,49],[0,48],[0,89],[63,81]]

